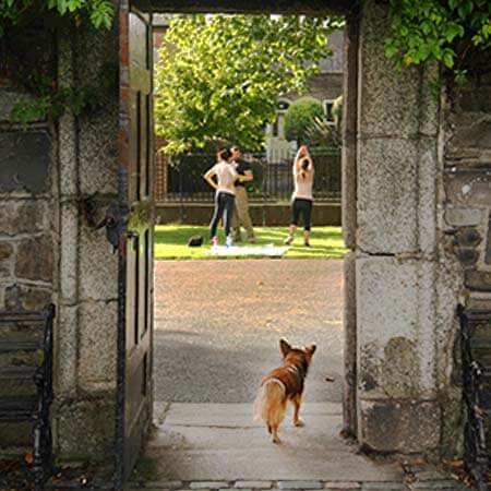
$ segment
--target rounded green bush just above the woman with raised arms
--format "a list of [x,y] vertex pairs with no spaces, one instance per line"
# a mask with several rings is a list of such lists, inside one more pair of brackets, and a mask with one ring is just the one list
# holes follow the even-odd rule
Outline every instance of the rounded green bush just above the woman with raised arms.
[[285,137],[299,144],[309,142],[309,129],[315,119],[324,119],[324,109],[316,99],[299,99],[290,105],[285,115]]

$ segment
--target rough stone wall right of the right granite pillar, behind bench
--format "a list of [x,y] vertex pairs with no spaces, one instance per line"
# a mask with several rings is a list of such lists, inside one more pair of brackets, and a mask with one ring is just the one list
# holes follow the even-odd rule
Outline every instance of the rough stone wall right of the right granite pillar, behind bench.
[[[468,308],[490,310],[491,77],[448,89],[443,111],[442,256],[445,264],[456,263],[460,271],[460,301]],[[483,347],[474,356],[484,366],[489,366],[491,357],[490,333],[489,322],[474,333],[474,346]],[[455,376],[459,376],[458,372]],[[446,426],[459,428],[460,421],[451,418],[452,411],[447,414]],[[491,443],[489,429],[488,441]]]

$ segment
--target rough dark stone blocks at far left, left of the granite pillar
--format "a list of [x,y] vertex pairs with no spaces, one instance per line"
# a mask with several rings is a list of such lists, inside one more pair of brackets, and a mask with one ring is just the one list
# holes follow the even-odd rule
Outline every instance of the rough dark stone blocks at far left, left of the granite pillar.
[[[27,46],[29,49],[26,49]],[[10,36],[2,47],[15,62],[46,76],[55,76],[55,38],[49,32],[36,27],[25,29]],[[57,211],[52,189],[57,178],[56,131],[45,120],[32,120],[27,124],[12,121],[11,110],[24,97],[34,100],[35,96],[26,93],[13,73],[2,73],[0,309],[7,310],[41,309],[51,300],[57,288],[57,249],[53,247]],[[38,333],[32,335],[37,336]],[[2,361],[10,362],[3,358]],[[22,390],[14,387],[14,393],[17,388]],[[29,440],[28,424],[0,424],[0,452],[10,445],[28,444]]]

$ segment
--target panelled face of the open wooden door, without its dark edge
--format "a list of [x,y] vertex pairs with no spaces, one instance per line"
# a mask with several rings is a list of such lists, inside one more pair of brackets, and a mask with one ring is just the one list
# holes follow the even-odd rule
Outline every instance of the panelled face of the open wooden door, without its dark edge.
[[[130,155],[134,158],[132,163],[135,173],[132,177],[133,192],[129,193],[130,215],[128,221],[131,244],[128,247],[128,258],[132,256],[134,268],[130,272],[131,280],[134,282],[129,289],[129,300],[134,306],[130,312],[132,319],[130,337],[133,346],[127,352],[127,434],[129,440],[143,441],[140,433],[145,432],[151,423],[152,395],[148,394],[147,384],[147,360],[151,356],[151,330],[147,326],[148,307],[151,295],[148,291],[148,237],[153,229],[152,196],[146,189],[149,180],[151,158],[147,152],[147,142],[152,139],[149,134],[147,108],[152,96],[152,71],[148,67],[148,36],[151,26],[148,16],[140,12],[130,12],[130,94],[134,101],[133,120],[130,128]],[[133,445],[133,444],[131,444]],[[128,466],[135,456],[128,455]]]

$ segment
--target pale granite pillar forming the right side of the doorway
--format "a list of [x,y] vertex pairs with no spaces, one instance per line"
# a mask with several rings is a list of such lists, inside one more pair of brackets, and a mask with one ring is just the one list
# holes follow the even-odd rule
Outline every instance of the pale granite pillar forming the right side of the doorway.
[[458,296],[455,273],[439,261],[442,159],[432,68],[396,70],[384,53],[387,32],[387,7],[367,2],[358,67],[358,440],[379,452],[429,454],[441,452],[441,399],[453,366],[441,332],[454,324],[440,320],[453,319]]

